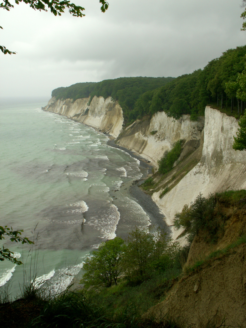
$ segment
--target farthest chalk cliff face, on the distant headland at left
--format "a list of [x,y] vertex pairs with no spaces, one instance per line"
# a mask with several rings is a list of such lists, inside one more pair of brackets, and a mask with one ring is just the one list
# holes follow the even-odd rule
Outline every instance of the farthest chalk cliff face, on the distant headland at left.
[[48,105],[43,110],[66,115],[78,122],[88,124],[98,128],[102,132],[110,133],[116,138],[122,130],[123,112],[117,101],[112,101],[111,97],[94,97],[90,106],[89,98],[56,100],[51,98]]

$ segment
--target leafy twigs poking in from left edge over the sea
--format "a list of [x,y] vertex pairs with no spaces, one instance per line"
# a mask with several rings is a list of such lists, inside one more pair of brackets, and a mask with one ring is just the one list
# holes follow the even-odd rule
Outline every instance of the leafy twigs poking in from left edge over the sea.
[[[8,228],[8,226],[0,226],[0,240],[5,239],[4,236],[9,236],[11,241],[21,242],[22,244],[34,244],[34,242],[29,240],[27,237],[21,237],[22,232],[22,229],[13,230],[12,227]],[[2,248],[0,249],[0,261],[4,260],[9,260],[17,265],[23,264],[21,261],[18,261],[16,257],[14,257],[13,252],[11,252],[8,248],[4,248],[4,246],[2,246]]]

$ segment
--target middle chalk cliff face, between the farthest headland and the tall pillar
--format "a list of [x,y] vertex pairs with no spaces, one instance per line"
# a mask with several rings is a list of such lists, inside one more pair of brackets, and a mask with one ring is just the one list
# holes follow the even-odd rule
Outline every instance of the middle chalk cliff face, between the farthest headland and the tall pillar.
[[190,115],[182,115],[180,119],[175,120],[165,112],[159,112],[155,113],[151,120],[146,116],[135,121],[119,135],[117,142],[157,166],[157,161],[165,151],[172,149],[176,141],[200,140],[203,126],[203,117],[198,121],[191,121]]

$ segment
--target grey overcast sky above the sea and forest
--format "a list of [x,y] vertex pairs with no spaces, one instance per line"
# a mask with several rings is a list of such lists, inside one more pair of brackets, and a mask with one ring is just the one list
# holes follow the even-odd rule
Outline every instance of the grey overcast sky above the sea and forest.
[[[10,3],[14,1],[10,0]],[[74,0],[85,17],[0,9],[0,96],[44,96],[77,82],[173,76],[246,44],[241,0]]]

